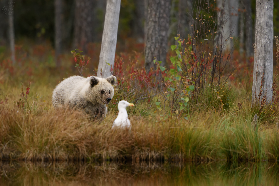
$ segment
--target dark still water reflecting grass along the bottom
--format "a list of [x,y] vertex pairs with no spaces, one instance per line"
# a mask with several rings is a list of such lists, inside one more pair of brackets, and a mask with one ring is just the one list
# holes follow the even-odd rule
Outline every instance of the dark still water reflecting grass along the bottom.
[[0,162],[0,185],[279,185],[279,165],[263,162]]

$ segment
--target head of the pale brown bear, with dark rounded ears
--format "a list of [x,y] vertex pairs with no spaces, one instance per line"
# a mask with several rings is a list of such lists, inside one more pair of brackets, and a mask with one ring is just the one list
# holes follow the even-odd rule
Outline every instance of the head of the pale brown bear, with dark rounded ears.
[[114,95],[114,88],[112,85],[117,85],[115,76],[107,78],[98,78],[90,76],[90,98],[92,103],[108,104]]

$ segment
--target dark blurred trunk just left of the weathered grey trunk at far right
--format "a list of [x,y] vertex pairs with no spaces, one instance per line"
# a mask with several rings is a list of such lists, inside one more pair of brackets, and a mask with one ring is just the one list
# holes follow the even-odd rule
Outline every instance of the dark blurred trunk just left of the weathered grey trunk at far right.
[[251,0],[243,0],[243,6],[245,11],[245,50],[246,57],[254,55],[253,52],[253,28],[252,28],[252,10],[251,10]]

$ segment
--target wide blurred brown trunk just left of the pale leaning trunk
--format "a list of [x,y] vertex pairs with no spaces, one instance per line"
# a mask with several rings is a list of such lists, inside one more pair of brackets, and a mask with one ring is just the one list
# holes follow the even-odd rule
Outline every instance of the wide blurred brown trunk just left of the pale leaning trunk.
[[87,44],[93,42],[95,1],[75,0],[75,24],[73,48],[87,51]]

